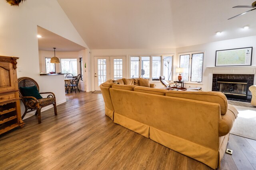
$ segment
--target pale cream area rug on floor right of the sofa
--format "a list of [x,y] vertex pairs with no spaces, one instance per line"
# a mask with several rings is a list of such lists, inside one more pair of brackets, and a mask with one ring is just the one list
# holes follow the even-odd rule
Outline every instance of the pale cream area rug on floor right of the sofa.
[[256,107],[234,107],[239,114],[230,133],[256,140]]

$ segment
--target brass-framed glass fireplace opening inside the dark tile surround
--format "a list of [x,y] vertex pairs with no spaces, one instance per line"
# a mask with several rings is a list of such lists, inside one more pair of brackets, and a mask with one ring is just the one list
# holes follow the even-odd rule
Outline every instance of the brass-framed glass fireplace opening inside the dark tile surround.
[[222,92],[227,98],[246,100],[248,80],[218,78],[216,91]]

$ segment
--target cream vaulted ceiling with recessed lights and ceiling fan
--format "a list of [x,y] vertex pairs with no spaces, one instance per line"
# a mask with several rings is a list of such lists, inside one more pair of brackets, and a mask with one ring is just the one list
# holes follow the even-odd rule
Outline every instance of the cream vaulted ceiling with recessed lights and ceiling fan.
[[176,48],[256,35],[256,11],[228,20],[251,9],[233,6],[253,0],[57,1],[90,49]]

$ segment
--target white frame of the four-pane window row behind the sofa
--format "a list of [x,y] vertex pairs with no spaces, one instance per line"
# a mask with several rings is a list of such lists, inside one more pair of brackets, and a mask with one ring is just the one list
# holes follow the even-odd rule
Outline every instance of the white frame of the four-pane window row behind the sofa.
[[129,69],[129,75],[128,77],[129,78],[132,78],[131,77],[131,57],[139,57],[139,78],[142,78],[141,76],[141,69],[142,69],[142,57],[150,57],[150,72],[149,72],[149,80],[150,82],[159,82],[159,80],[152,80],[152,66],[153,66],[153,57],[161,57],[161,70],[160,70],[160,76],[163,74],[164,72],[164,59],[166,57],[172,57],[172,68],[171,68],[171,80],[169,81],[173,81],[173,71],[174,71],[174,54],[151,54],[151,55],[129,55],[129,65],[128,65],[128,69]]

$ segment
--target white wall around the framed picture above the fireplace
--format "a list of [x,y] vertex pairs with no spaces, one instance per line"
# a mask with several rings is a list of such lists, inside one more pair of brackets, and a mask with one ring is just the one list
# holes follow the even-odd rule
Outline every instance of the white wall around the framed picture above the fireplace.
[[[195,51],[202,51],[205,52],[204,56],[204,72],[203,72],[203,80],[202,84],[186,84],[191,87],[202,87],[202,90],[211,90],[212,80],[209,80],[209,74],[212,74],[212,68],[215,66],[215,53],[216,50],[223,50],[223,49],[235,49],[235,48],[242,48],[242,47],[253,47],[252,48],[252,66],[256,66],[256,36],[250,37],[243,37],[237,39],[229,39],[225,41],[216,41],[213,43],[205,43],[200,45],[193,45],[188,47],[181,47],[176,49],[176,66],[178,66],[178,54],[179,53],[186,53],[186,52],[195,52]],[[223,69],[226,67],[215,67],[215,69]],[[241,73],[244,74],[243,69],[245,67],[233,67],[236,69],[240,69]],[[251,68],[251,67],[250,67]],[[239,74],[238,72],[236,74]],[[254,78],[255,80],[255,78]]]

